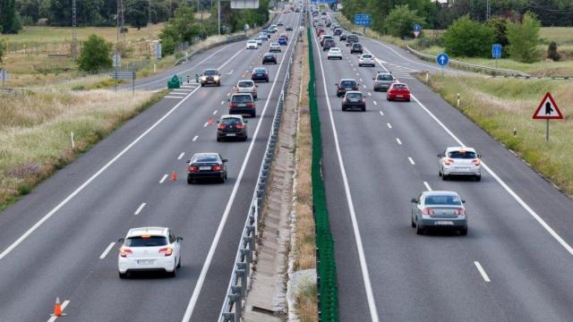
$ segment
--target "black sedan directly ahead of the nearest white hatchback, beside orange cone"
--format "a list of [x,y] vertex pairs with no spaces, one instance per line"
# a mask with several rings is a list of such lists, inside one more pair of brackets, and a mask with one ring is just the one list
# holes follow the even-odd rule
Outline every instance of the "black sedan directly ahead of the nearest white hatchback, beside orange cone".
[[227,159],[218,153],[196,153],[187,163],[188,184],[199,179],[215,179],[221,183],[227,180]]

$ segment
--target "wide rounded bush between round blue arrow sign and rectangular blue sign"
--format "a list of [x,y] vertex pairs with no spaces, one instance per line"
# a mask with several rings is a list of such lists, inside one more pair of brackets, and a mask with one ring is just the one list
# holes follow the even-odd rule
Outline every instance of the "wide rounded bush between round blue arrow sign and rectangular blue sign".
[[488,25],[472,21],[465,15],[444,33],[444,47],[449,55],[487,57],[494,41],[494,33]]

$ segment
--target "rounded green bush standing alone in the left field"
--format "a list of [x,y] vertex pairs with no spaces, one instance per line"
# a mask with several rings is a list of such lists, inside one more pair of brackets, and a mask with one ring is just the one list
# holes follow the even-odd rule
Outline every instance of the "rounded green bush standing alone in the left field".
[[78,58],[78,65],[81,71],[98,72],[103,68],[109,68],[112,65],[111,47],[104,38],[91,35],[88,40],[83,42],[81,55]]

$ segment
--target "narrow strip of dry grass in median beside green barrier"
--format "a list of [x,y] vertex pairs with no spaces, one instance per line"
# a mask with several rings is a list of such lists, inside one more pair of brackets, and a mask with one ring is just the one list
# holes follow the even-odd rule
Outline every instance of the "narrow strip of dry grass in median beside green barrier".
[[[302,50],[301,50],[302,49]],[[316,268],[314,218],[312,216],[312,134],[308,92],[309,81],[308,43],[299,47],[303,61],[301,71],[301,95],[299,97],[299,123],[296,131],[296,248],[295,271]],[[306,54],[306,55],[305,55]],[[318,321],[316,284],[300,285],[296,294],[296,312],[302,322]]]

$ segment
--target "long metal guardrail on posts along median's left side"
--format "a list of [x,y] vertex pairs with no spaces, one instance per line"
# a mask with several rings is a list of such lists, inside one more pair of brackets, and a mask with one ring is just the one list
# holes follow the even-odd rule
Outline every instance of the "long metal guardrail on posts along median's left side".
[[[298,27],[297,27],[298,29]],[[298,42],[299,33],[294,33],[293,44]],[[296,46],[296,45],[294,45]],[[293,62],[295,59],[295,47],[290,53],[288,58],[288,65],[286,66],[285,80],[278,96],[277,109],[273,117],[272,127],[270,129],[269,140],[267,141],[267,148],[265,149],[264,157],[262,159],[261,170],[255,186],[255,191],[252,195],[251,206],[247,214],[246,221],[241,234],[241,240],[235,256],[235,265],[231,273],[231,280],[227,287],[223,307],[219,314],[218,322],[240,322],[243,317],[243,303],[251,277],[251,263],[256,250],[256,238],[258,236],[257,225],[259,224],[262,201],[265,198],[267,191],[267,182],[269,179],[270,165],[272,164],[273,157],[275,157],[275,148],[278,140],[278,129],[280,127],[280,119],[283,113],[283,106],[285,104],[285,93],[290,80],[290,73],[292,71]]]

